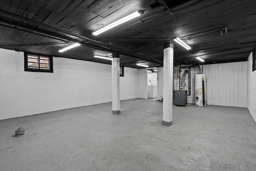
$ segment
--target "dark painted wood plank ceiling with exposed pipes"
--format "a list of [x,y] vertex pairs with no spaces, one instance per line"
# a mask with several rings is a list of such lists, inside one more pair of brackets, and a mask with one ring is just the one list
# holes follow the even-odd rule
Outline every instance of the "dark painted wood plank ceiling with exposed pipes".
[[[1,0],[0,48],[111,64],[93,55],[120,54],[120,65],[163,64],[163,45],[175,36],[175,64],[246,61],[256,48],[255,0]],[[143,10],[102,34],[92,32]],[[227,27],[227,33],[225,32]],[[222,34],[220,33],[222,32]],[[80,42],[66,52],[61,48]]]

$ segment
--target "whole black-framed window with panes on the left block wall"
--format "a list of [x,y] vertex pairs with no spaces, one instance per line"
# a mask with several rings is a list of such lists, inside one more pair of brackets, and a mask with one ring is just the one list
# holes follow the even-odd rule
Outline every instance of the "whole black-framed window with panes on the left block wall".
[[52,56],[25,52],[24,61],[25,61],[25,71],[53,72]]

